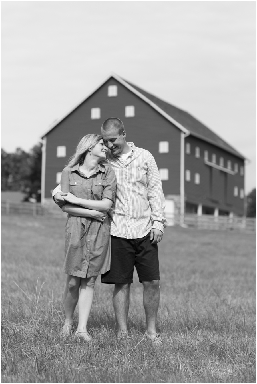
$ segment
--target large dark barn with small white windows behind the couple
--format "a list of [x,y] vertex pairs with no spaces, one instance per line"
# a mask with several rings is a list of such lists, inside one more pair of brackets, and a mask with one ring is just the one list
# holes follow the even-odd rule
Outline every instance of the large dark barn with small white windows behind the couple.
[[43,134],[42,205],[78,141],[110,117],[123,121],[127,142],[153,154],[167,209],[181,217],[245,214],[245,157],[191,114],[114,73]]

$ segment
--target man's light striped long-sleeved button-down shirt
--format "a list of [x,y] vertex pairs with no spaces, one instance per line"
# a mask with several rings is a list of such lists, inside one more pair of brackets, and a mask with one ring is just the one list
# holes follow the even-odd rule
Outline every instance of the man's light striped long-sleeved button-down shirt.
[[153,155],[134,146],[125,161],[120,156],[106,153],[108,164],[117,179],[116,199],[108,214],[111,235],[140,238],[151,228],[163,231],[168,222],[164,218],[165,199],[159,170]]

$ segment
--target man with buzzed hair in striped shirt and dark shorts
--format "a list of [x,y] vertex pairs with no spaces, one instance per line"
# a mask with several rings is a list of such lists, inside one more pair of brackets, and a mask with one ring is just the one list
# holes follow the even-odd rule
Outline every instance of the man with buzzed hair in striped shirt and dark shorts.
[[[129,290],[134,266],[143,283],[147,330],[144,338],[162,345],[156,332],[159,307],[159,260],[157,243],[168,222],[163,217],[165,199],[159,171],[150,152],[127,143],[123,122],[109,118],[101,127],[108,147],[107,161],[117,178],[116,200],[108,214],[111,222],[111,269],[102,283],[115,284],[113,307],[118,337],[128,334]],[[57,187],[58,188],[58,187]],[[59,191],[58,193],[56,193]],[[53,191],[56,204],[63,204],[60,189]]]

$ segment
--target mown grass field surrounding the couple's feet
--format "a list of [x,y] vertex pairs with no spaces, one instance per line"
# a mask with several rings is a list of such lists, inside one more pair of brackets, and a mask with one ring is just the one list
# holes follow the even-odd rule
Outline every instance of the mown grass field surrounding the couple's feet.
[[142,339],[136,272],[128,338],[115,336],[113,286],[99,278],[93,341],[59,336],[64,227],[62,219],[2,217],[2,382],[255,382],[253,235],[165,229],[159,349]]

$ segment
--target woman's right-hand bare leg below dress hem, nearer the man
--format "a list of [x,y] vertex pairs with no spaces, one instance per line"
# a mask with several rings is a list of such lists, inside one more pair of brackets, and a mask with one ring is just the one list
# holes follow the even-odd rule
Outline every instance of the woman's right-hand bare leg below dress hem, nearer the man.
[[89,341],[91,338],[87,332],[86,325],[91,311],[95,281],[97,276],[81,278],[80,280],[80,296],[78,299],[78,329],[76,334],[84,341]]

